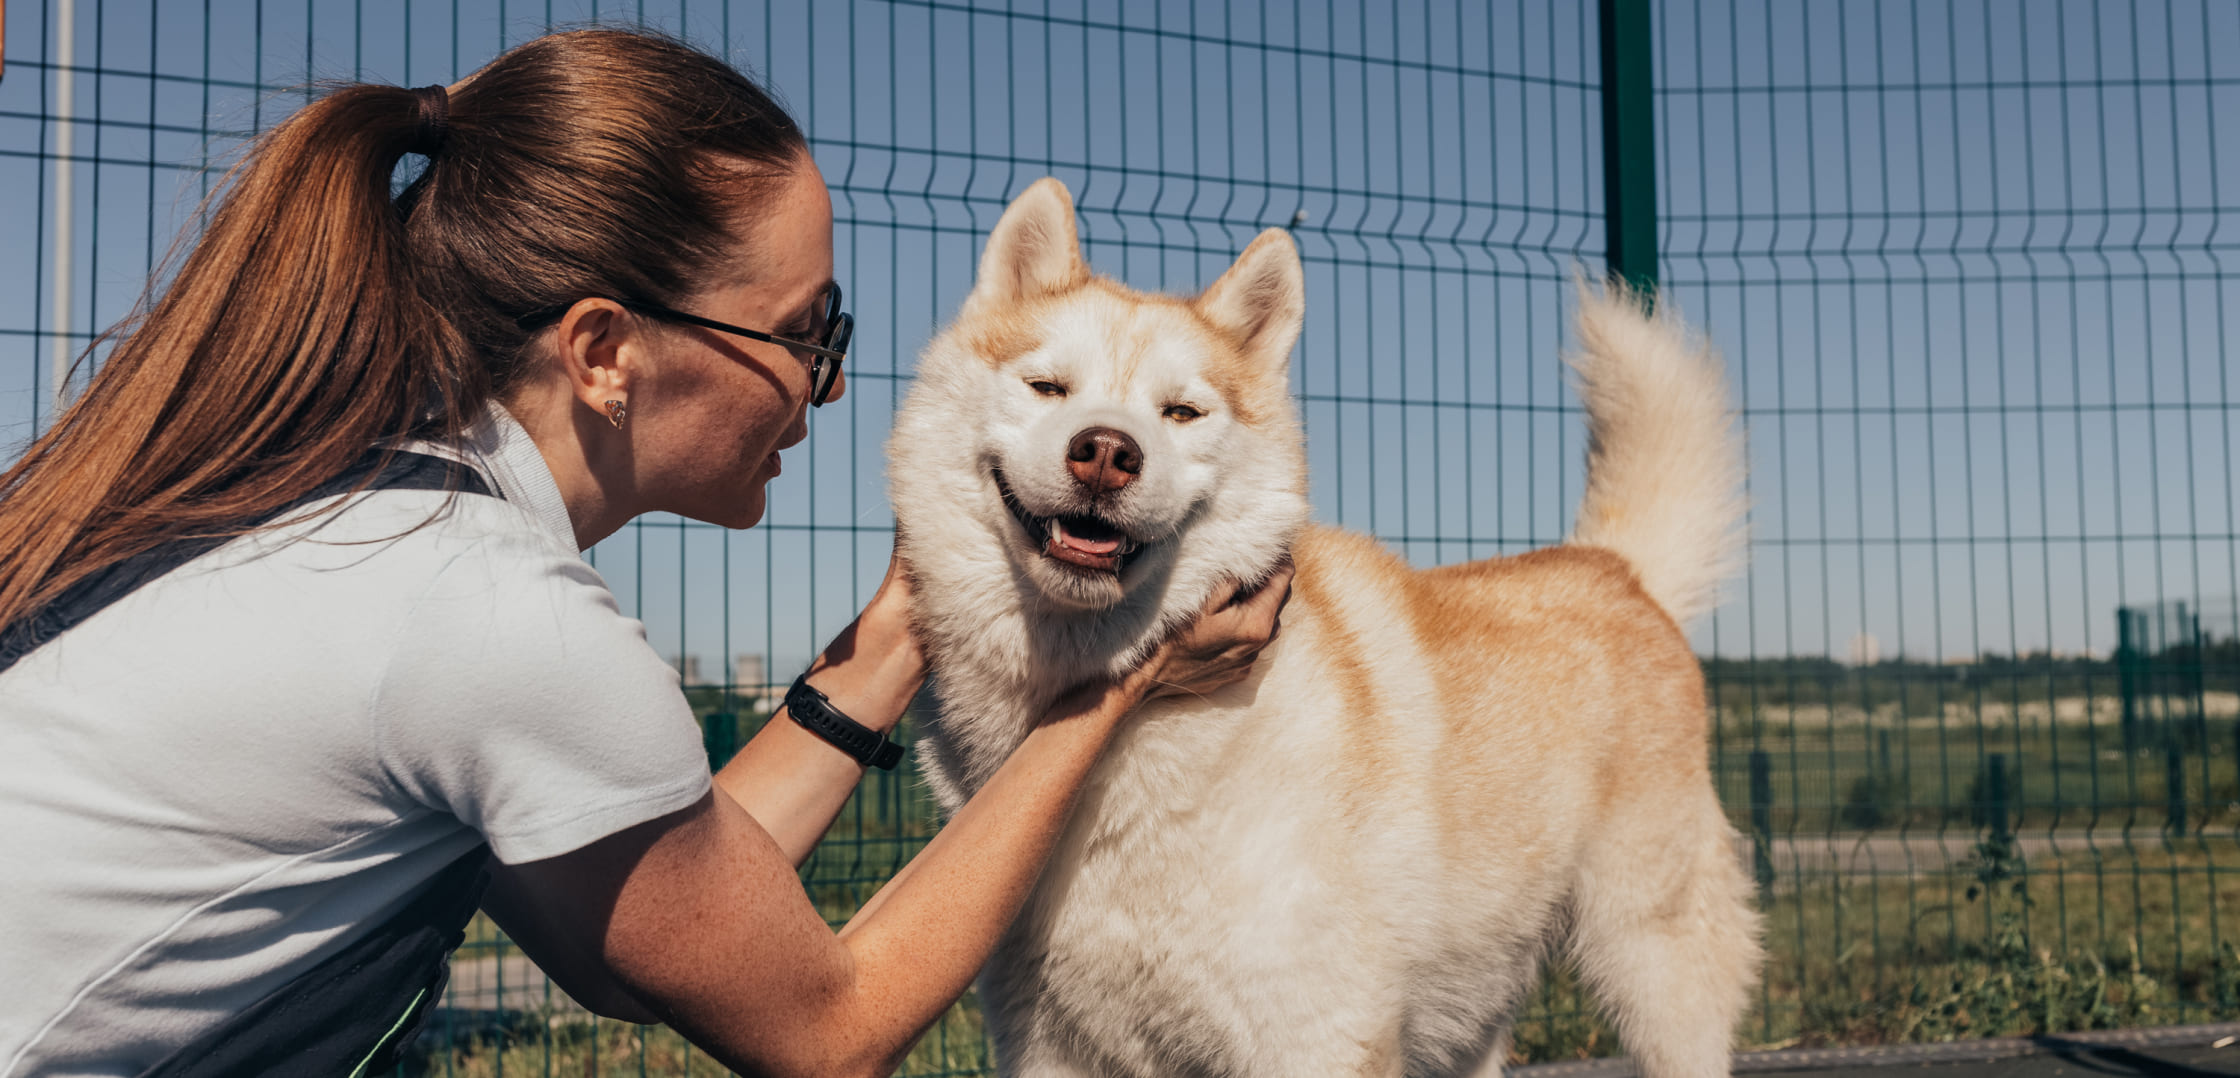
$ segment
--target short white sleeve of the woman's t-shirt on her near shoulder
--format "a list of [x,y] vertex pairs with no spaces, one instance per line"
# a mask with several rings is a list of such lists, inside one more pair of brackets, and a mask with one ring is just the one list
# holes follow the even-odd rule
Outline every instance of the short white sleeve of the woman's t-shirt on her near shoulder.
[[598,571],[531,538],[452,558],[374,701],[383,766],[517,865],[699,800],[708,758],[676,672]]

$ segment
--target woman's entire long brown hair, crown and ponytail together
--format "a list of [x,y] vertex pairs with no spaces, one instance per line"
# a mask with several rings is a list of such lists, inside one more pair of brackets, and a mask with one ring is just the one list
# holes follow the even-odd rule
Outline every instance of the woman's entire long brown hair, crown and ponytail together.
[[732,271],[755,193],[806,152],[750,78],[625,29],[491,61],[450,90],[439,148],[421,110],[345,85],[251,143],[170,287],[0,473],[0,628],[166,540],[237,533],[385,439],[457,435],[522,372],[515,318]]

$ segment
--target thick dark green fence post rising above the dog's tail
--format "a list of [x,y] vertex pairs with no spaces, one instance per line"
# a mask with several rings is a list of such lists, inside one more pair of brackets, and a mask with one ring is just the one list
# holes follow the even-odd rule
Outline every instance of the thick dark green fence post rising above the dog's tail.
[[1658,143],[1649,0],[1602,0],[1602,226],[1611,276],[1658,289]]

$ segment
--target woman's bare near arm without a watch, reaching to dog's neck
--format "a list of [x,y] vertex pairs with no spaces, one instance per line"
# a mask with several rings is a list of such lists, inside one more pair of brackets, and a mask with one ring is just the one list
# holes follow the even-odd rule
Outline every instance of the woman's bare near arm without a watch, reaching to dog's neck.
[[1207,690],[1243,677],[1275,634],[1281,592],[1212,610],[1124,684],[1062,699],[838,937],[786,849],[721,789],[504,872],[629,997],[728,1067],[892,1074],[1017,917],[1127,713],[1154,684]]

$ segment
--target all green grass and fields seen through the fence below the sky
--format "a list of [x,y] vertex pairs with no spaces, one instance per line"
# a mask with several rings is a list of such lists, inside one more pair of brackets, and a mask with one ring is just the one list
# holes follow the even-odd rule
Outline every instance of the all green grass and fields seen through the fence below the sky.
[[[2050,688],[2036,701],[1985,688],[1911,684],[1886,706],[1846,710],[1844,693],[1779,686],[1779,704],[1727,710],[1714,728],[1714,782],[1752,829],[1749,758],[1763,751],[1763,816],[1781,838],[1938,836],[1973,856],[1915,874],[1794,876],[1765,896],[1767,964],[1745,1020],[1749,1047],[1877,1044],[2240,1017],[2240,722],[2173,715],[2126,751],[2110,706]],[[1761,686],[1765,688],[1765,686]],[[2007,686],[2012,688],[2012,686]],[[2061,686],[2068,688],[2068,686]],[[1770,693],[1770,690],[1767,690]],[[1850,699],[1873,704],[1877,690]],[[2090,693],[2090,688],[2088,688]],[[1720,699],[1736,695],[1720,686]],[[1917,699],[1915,699],[1917,697]],[[712,710],[708,701],[701,710]],[[1920,704],[1929,710],[1911,710]],[[2020,706],[2016,706],[2020,704]],[[1817,708],[1817,710],[1814,710]],[[2173,717],[2177,722],[2159,722]],[[744,740],[762,717],[737,722]],[[726,731],[728,733],[728,731]],[[2171,749],[2184,831],[2171,823]],[[2090,847],[2023,858],[1991,834],[1989,760],[2000,758],[2009,834],[2090,834]],[[842,923],[939,829],[921,780],[874,773],[802,872]],[[513,952],[477,917],[461,957]],[[432,1038],[405,1074],[625,1076],[724,1074],[668,1029],[529,1009]],[[1608,1056],[1617,1040],[1575,977],[1555,968],[1516,1026],[1516,1060]],[[972,997],[898,1071],[992,1074]]]

